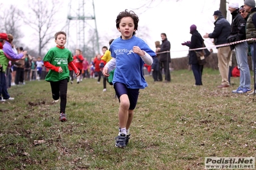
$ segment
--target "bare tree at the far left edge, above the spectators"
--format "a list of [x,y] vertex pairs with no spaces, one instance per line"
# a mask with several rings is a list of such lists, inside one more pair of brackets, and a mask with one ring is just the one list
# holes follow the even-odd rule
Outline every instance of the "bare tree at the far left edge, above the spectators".
[[3,4],[0,4],[0,6],[2,9],[4,9],[3,12],[0,13],[0,20],[2,21],[0,29],[3,30],[5,33],[13,35],[14,44],[20,43],[20,39],[24,36],[21,33],[22,19],[24,17],[24,13],[13,5],[3,6]]

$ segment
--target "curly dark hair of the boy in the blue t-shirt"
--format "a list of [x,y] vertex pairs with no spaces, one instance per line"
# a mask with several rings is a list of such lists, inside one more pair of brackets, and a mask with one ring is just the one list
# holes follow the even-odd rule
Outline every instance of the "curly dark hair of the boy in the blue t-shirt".
[[[115,20],[115,26],[117,28],[120,28],[119,24],[121,22],[121,19],[124,17],[131,17],[133,19],[133,24],[134,24],[134,29],[138,30],[138,22],[139,22],[139,17],[136,15],[133,11],[128,11],[127,9],[124,10],[124,12],[120,12],[119,15],[117,15],[117,18]],[[135,35],[135,31],[133,32],[133,35]]]

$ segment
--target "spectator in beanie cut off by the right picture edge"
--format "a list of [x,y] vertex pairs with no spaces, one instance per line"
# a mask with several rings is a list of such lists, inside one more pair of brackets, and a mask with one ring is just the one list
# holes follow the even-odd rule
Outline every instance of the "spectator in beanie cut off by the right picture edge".
[[[256,8],[255,8],[255,1],[254,0],[245,0],[244,1],[244,10],[250,13],[247,21],[246,21],[246,39],[255,38],[256,37]],[[256,47],[254,45],[253,40],[247,41],[248,49],[252,54],[252,69],[256,73]],[[255,94],[256,92],[256,77],[254,77],[254,90],[249,93],[249,95]]]

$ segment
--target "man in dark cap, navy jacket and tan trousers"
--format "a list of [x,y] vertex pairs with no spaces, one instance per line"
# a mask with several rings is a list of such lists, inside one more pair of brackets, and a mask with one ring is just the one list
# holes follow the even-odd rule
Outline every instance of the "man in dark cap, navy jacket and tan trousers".
[[[230,23],[226,20],[223,15],[220,15],[221,12],[214,12],[214,31],[212,33],[206,33],[203,38],[214,38],[214,44],[220,45],[227,43],[226,38],[230,35]],[[228,88],[230,82],[228,81],[229,75],[229,61],[231,57],[231,50],[229,46],[218,47],[218,68],[219,73],[221,74],[221,84],[218,88]]]

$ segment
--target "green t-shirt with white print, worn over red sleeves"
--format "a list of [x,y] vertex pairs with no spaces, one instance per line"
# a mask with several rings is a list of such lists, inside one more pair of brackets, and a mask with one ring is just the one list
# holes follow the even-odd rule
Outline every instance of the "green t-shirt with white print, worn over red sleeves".
[[67,64],[73,61],[73,56],[70,50],[53,47],[47,52],[46,56],[44,56],[43,61],[48,61],[54,66],[61,66],[63,70],[62,73],[49,70],[46,75],[46,81],[60,81],[63,79],[69,81],[69,68]]

